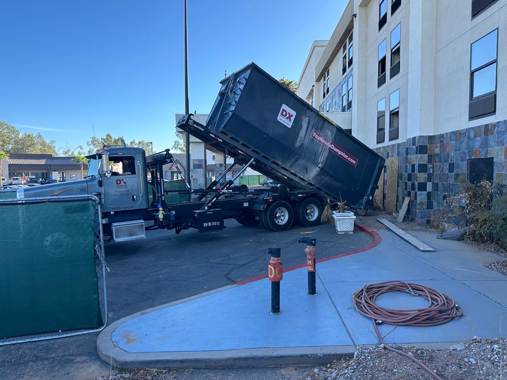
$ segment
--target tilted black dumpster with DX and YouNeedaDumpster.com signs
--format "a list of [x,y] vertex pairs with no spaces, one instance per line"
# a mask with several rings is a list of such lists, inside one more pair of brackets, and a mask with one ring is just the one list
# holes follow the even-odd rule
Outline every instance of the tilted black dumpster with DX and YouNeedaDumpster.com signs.
[[290,189],[370,208],[384,159],[320,115],[255,63],[229,75],[209,114],[208,130],[256,159],[253,169]]

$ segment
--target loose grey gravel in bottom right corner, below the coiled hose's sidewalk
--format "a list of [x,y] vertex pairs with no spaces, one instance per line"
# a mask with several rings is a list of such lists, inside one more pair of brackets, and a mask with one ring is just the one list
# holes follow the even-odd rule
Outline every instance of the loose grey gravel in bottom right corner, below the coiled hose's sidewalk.
[[[474,338],[442,351],[392,347],[421,360],[446,380],[507,378],[505,368],[507,339]],[[434,378],[413,361],[388,351],[380,345],[369,349],[359,349],[355,358],[343,358],[327,366],[315,367],[306,380],[429,380]]]

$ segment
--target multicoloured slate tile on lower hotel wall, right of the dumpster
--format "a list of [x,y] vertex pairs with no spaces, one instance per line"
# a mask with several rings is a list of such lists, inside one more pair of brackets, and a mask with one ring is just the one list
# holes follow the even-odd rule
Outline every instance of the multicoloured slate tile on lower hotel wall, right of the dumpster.
[[[410,197],[407,218],[429,224],[444,194],[458,194],[468,159],[494,158],[495,183],[507,185],[507,120],[430,136],[416,136],[374,149],[384,158],[397,157],[396,209]],[[387,174],[384,173],[384,189]],[[385,194],[384,194],[385,199]]]

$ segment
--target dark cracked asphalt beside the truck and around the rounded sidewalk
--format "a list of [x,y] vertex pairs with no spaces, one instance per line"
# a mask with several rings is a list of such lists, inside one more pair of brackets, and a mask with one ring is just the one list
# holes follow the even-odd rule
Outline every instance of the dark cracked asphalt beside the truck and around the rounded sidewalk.
[[[315,235],[318,258],[370,245],[373,238],[356,231],[338,235],[330,223],[274,233],[226,220],[227,228],[200,234],[196,230],[148,231],[146,240],[110,243],[105,256],[109,323],[165,303],[245,281],[267,273],[268,248],[280,246],[283,267],[306,263],[301,236]],[[97,333],[33,343],[0,346],[2,379],[91,379],[108,375],[111,365],[96,351]],[[299,378],[308,367],[202,369],[192,378]],[[113,370],[113,373],[116,373]],[[189,377],[187,377],[189,378]],[[190,378],[189,378],[190,379]]]

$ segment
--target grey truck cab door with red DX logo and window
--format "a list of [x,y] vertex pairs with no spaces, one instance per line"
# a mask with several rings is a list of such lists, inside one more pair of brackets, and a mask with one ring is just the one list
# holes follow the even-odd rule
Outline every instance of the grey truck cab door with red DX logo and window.
[[109,156],[112,174],[103,177],[104,206],[112,211],[138,208],[140,194],[140,165],[135,156]]

